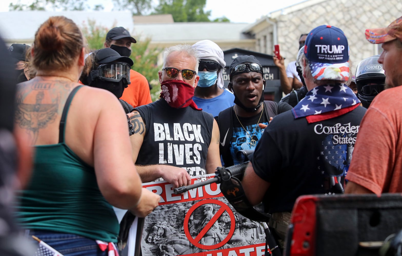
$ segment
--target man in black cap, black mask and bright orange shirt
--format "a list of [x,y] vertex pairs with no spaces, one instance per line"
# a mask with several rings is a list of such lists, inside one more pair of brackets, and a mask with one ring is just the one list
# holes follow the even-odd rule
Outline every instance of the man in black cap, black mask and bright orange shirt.
[[[137,41],[131,37],[127,29],[122,26],[112,28],[106,35],[105,48],[111,48],[121,56],[131,56],[131,43]],[[148,80],[137,71],[130,72],[131,85],[127,87],[121,97],[134,108],[152,102]]]

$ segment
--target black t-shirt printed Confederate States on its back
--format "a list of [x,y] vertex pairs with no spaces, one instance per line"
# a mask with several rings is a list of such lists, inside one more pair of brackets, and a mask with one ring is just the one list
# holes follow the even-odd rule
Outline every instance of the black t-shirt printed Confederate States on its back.
[[360,121],[366,109],[308,124],[291,111],[276,116],[258,142],[252,164],[269,182],[269,212],[291,211],[300,195],[343,193]]

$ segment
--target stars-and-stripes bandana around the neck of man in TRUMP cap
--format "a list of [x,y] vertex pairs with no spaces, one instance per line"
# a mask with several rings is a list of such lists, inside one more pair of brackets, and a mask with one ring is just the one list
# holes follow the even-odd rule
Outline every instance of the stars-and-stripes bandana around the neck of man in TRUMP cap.
[[[322,118],[319,120],[326,120],[352,111],[359,104],[356,94],[343,83],[319,85],[306,94],[292,109],[292,113],[295,119],[320,115]],[[319,121],[317,118],[315,120]]]

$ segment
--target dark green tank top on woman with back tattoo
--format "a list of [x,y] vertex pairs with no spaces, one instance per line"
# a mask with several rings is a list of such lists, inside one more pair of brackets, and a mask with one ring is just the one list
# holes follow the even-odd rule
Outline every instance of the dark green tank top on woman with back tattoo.
[[77,234],[117,242],[119,222],[100,193],[94,168],[64,143],[64,123],[73,89],[60,121],[59,143],[35,146],[34,167],[17,211],[23,228]]

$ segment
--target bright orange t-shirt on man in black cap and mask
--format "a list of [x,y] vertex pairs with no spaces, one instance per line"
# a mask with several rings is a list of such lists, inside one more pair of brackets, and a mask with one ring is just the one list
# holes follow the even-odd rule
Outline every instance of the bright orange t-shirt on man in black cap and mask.
[[130,70],[131,83],[124,89],[120,99],[136,108],[152,102],[148,80],[135,70]]

